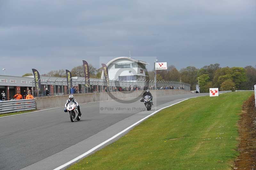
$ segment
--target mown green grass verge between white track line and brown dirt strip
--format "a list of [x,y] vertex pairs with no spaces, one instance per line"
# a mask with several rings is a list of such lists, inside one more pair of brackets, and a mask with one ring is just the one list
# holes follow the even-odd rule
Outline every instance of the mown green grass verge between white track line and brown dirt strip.
[[241,106],[251,95],[198,97],[166,108],[68,170],[231,169]]

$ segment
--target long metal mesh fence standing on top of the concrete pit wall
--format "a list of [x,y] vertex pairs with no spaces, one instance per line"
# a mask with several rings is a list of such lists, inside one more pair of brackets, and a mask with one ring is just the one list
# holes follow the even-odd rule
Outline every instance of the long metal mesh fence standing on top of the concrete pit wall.
[[[147,81],[109,81],[109,88],[107,87],[107,82],[104,79],[96,79],[90,78],[90,87],[85,86],[85,79],[83,77],[78,77],[76,79],[72,78],[73,86],[75,86],[76,92],[75,93],[100,93],[100,92],[114,92],[114,91],[128,91],[130,87],[133,90],[146,90],[146,89],[155,89],[155,90],[162,90],[162,89],[184,89],[190,91],[190,84],[179,82],[179,81],[156,81],[156,87],[153,80]],[[51,86],[52,85],[52,86]],[[50,91],[50,96],[56,95],[66,95],[70,94],[70,90],[67,88],[67,81],[66,78],[58,78],[54,81],[41,81],[41,91],[37,92],[35,95],[35,91],[33,91],[34,96],[43,97],[46,96],[45,88],[48,88]],[[51,90],[51,88],[53,88]],[[52,93],[51,93],[52,91]]]

